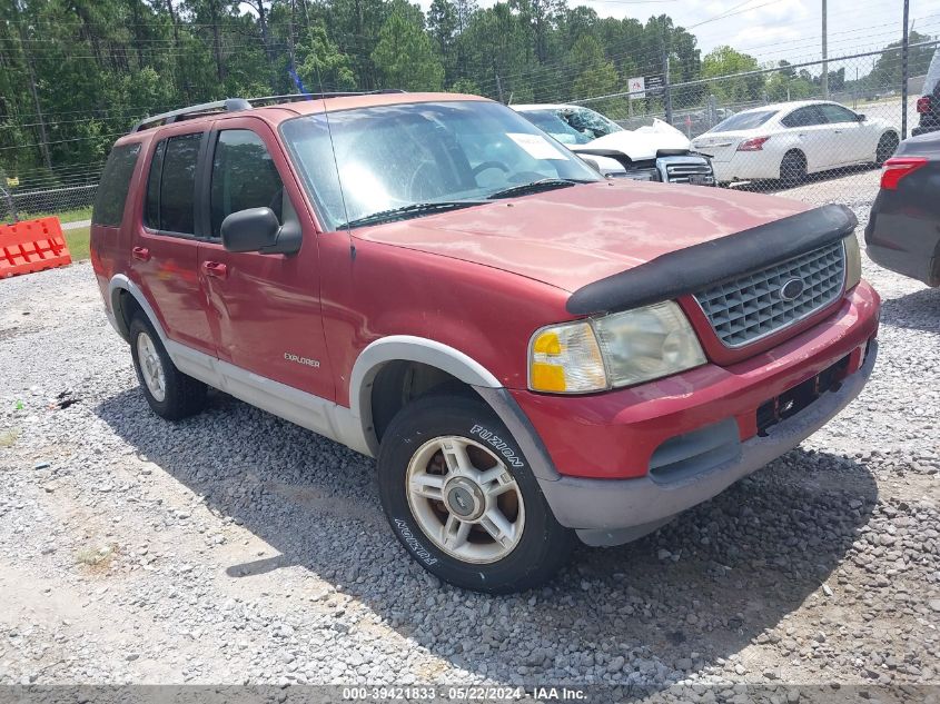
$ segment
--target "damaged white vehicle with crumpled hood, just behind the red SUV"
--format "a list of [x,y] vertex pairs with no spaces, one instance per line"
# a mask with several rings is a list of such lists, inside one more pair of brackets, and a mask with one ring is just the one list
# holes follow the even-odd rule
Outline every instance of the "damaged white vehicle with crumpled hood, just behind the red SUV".
[[692,151],[677,129],[659,119],[624,129],[600,112],[574,105],[509,106],[588,161],[604,176],[714,186],[711,160]]

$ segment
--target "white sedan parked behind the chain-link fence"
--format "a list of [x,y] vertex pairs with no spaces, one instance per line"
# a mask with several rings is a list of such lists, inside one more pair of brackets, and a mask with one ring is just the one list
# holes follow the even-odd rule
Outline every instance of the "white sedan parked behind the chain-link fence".
[[752,108],[731,116],[692,142],[712,157],[720,184],[780,179],[883,163],[898,148],[898,129],[838,102],[805,100]]

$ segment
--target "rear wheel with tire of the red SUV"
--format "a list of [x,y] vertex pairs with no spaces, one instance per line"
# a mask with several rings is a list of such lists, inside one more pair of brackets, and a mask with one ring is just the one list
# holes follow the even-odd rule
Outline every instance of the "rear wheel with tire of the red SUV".
[[205,408],[206,385],[176,368],[152,324],[139,313],[130,321],[130,354],[144,397],[158,416],[179,420]]

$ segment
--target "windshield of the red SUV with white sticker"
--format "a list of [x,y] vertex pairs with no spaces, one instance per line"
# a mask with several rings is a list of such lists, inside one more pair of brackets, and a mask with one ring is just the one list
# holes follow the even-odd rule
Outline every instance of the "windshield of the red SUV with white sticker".
[[[603,180],[505,106],[476,100],[310,115],[281,133],[324,226],[420,217],[545,179]],[[333,137],[333,148],[330,147]],[[334,153],[335,149],[335,153]],[[337,173],[338,169],[338,173]],[[415,207],[419,206],[419,207]],[[360,222],[364,221],[364,222]]]

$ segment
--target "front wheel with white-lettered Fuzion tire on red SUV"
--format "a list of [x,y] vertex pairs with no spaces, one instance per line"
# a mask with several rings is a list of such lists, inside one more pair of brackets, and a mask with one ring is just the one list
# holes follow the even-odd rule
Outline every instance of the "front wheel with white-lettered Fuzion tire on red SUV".
[[382,505],[412,557],[455,586],[506,594],[566,562],[574,533],[482,400],[428,395],[392,420],[378,455]]

